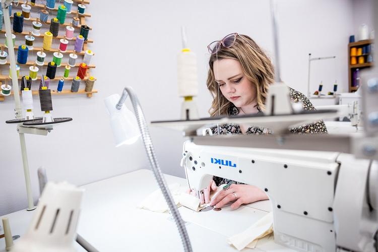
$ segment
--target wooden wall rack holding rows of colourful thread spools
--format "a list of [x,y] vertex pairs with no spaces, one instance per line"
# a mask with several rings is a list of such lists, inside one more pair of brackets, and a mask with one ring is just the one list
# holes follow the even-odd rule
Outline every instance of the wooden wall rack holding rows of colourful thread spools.
[[[41,48],[43,47],[44,33],[46,31],[49,31],[50,20],[51,20],[51,18],[55,18],[57,16],[57,10],[58,10],[58,7],[59,7],[59,3],[61,5],[63,2],[64,1],[60,1],[60,2],[56,1],[54,9],[45,8],[45,6],[42,5],[42,3],[45,3],[45,2],[43,2],[42,0],[36,0],[36,3],[34,5],[32,5],[30,3],[30,0],[28,2],[26,0],[20,1],[19,4],[15,4],[15,2],[13,2],[12,15],[11,15],[11,28],[13,26],[13,15],[14,15],[15,12],[21,12],[22,11],[21,5],[27,3],[31,7],[30,19],[29,20],[24,19],[23,31],[21,33],[16,33],[12,29],[12,33],[16,35],[16,42],[15,42],[15,47],[14,47],[16,59],[17,59],[17,53],[18,53],[18,49],[19,49],[18,46],[25,44],[25,36],[29,35],[29,31],[32,31],[32,28],[33,28],[32,22],[39,20],[39,12],[42,9],[45,9],[49,13],[48,20],[46,22],[39,21],[42,24],[42,27],[40,29],[40,35],[36,36],[35,34],[32,34],[32,36],[35,38],[35,40],[34,40],[34,43],[33,43],[33,49],[29,50],[28,61],[26,62],[26,64],[17,63],[21,68],[20,69],[20,75],[19,75],[19,78],[18,78],[19,79],[19,87],[21,87],[22,76],[29,75],[29,67],[34,65],[35,60],[37,58],[37,52],[41,51]],[[74,67],[71,66],[71,71],[70,71],[69,77],[67,79],[65,79],[65,85],[64,85],[63,90],[60,93],[57,92],[58,81],[64,75],[65,67],[68,65],[68,61],[69,61],[69,54],[74,52],[74,50],[73,50],[74,44],[75,44],[77,35],[80,34],[80,27],[81,27],[81,25],[86,25],[86,18],[91,17],[91,14],[89,14],[87,12],[89,4],[90,4],[89,0],[73,0],[73,2],[74,2],[74,4],[73,4],[71,13],[66,15],[66,19],[65,19],[65,22],[63,24],[59,24],[58,36],[52,37],[51,49],[49,49],[49,50],[43,49],[43,52],[46,53],[46,58],[44,60],[43,66],[36,66],[36,67],[39,68],[39,72],[37,74],[37,80],[33,81],[33,83],[32,83],[32,94],[33,94],[33,96],[38,95],[39,80],[41,79],[42,74],[43,75],[46,74],[47,64],[48,64],[49,61],[52,61],[53,53],[58,51],[59,40],[65,37],[64,35],[65,35],[65,32],[66,32],[66,26],[74,27],[74,36],[71,40],[68,40],[69,44],[68,44],[67,50],[65,52],[63,52],[63,51],[60,52],[64,55],[64,57],[62,58],[61,66],[57,67],[55,78],[50,80],[49,89],[51,89],[51,95],[86,95],[87,97],[90,98],[90,97],[92,97],[92,95],[94,93],[98,92],[96,89],[93,89],[90,92],[85,91],[85,81],[90,77],[90,70],[93,69],[93,68],[96,68],[96,66],[93,65],[93,64],[87,65],[87,72],[85,74],[85,78],[81,81],[79,91],[78,92],[71,92],[71,90],[70,90],[72,80],[76,77],[77,71],[79,69],[79,65],[83,61],[83,55],[85,54],[85,51],[87,49],[89,49],[88,43],[93,43],[93,39],[91,39],[89,37],[88,37],[88,40],[84,41],[83,50],[80,51],[80,52],[79,51],[76,52],[76,54],[78,55],[78,58],[76,59],[76,64],[75,64]],[[86,6],[84,14],[78,14],[78,8],[77,7],[78,7],[79,4],[84,4]],[[73,20],[74,17],[79,18],[79,25],[78,26],[72,25],[72,20]],[[4,46],[4,51],[8,52],[8,48],[6,48],[5,45],[4,45],[5,27],[4,27],[4,21],[3,20],[2,20],[2,22],[3,22],[3,29],[0,30],[0,47]],[[90,33],[91,33],[91,30],[92,29],[90,28]],[[89,36],[90,35],[91,34],[89,34]],[[5,81],[7,82],[8,85],[12,85],[12,81],[8,76],[9,75],[9,65],[10,65],[10,62],[9,62],[9,56],[8,56],[6,64],[0,65],[0,85],[4,84]],[[97,82],[95,83],[95,86],[96,86],[96,84],[97,84]],[[12,89],[11,95],[8,96],[8,97],[13,96],[14,91],[15,90]],[[18,90],[18,91],[21,94],[21,91],[20,90]],[[9,98],[6,98],[6,97],[7,96],[3,96],[0,92],[0,101],[4,101],[5,99],[9,99]]]

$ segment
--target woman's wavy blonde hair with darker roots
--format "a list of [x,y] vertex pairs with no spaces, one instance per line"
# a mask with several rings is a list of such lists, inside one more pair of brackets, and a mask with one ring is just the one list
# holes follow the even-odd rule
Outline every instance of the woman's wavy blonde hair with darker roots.
[[[247,40],[250,45],[239,36]],[[252,85],[256,86],[257,104],[260,109],[264,110],[269,85],[274,83],[274,68],[269,57],[253,39],[239,34],[231,47],[221,46],[216,54],[210,56],[210,69],[206,82],[207,88],[213,97],[213,102],[209,109],[210,115],[229,115],[230,109],[233,107],[233,104],[220,92],[214,77],[214,61],[222,58],[232,58],[240,62],[244,76]]]

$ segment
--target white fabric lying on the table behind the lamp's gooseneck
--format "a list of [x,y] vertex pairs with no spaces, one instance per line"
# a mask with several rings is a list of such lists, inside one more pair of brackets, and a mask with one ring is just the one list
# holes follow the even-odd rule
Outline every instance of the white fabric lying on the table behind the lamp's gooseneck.
[[[180,184],[179,183],[173,183],[168,185],[169,191],[172,194],[174,203],[176,206],[179,204],[179,198],[180,198]],[[160,188],[150,194],[137,208],[140,209],[146,209],[157,213],[164,213],[168,211],[168,205],[165,202],[164,196],[161,193]]]

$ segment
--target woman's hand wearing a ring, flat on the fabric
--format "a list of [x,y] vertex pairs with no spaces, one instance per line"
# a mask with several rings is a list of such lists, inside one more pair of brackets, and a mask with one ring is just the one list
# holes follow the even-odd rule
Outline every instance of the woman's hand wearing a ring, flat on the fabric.
[[237,209],[241,204],[249,204],[256,201],[268,200],[268,196],[259,187],[249,184],[231,184],[227,190],[218,193],[211,200],[210,206],[222,208],[229,202],[235,201],[231,209]]

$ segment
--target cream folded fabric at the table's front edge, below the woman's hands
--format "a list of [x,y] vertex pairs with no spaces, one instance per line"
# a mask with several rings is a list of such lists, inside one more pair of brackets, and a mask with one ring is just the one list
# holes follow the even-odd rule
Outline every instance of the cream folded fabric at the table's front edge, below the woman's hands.
[[273,213],[268,213],[245,231],[228,238],[228,243],[241,250],[255,248],[258,240],[273,232]]

